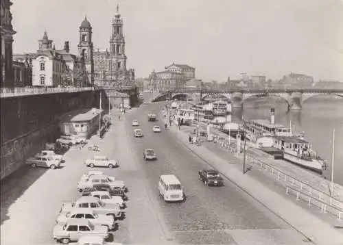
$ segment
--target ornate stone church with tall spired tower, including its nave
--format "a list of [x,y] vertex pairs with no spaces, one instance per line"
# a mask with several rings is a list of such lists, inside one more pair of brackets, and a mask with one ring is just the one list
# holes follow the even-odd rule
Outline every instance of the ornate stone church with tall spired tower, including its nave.
[[94,51],[95,84],[99,86],[120,86],[134,83],[134,69],[126,68],[125,37],[123,19],[119,14],[119,5],[112,21],[110,49]]

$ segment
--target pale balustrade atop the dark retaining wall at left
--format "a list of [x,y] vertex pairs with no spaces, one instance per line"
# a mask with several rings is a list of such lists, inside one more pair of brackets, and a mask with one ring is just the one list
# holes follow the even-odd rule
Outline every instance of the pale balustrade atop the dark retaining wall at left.
[[0,97],[29,96],[35,94],[56,94],[64,92],[82,92],[97,90],[94,87],[72,87],[72,88],[48,88],[48,87],[23,87],[23,88],[1,88]]

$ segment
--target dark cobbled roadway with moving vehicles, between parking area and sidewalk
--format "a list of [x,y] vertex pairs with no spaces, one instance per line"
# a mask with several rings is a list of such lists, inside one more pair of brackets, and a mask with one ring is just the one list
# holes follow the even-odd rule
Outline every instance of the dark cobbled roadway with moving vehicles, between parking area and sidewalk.
[[[161,105],[152,104],[126,117],[128,137],[133,155],[142,155],[145,148],[156,152],[156,162],[141,164],[150,183],[152,199],[159,203],[163,218],[179,244],[302,244],[303,237],[268,209],[242,192],[229,181],[223,187],[211,188],[198,180],[198,170],[209,168],[189,149],[176,141],[163,122],[147,122],[147,114],[158,114]],[[132,120],[139,120],[143,138],[134,138]],[[152,133],[159,125],[161,133]],[[141,158],[141,157],[140,157]],[[176,175],[185,188],[185,203],[164,203],[158,195],[158,177]]]

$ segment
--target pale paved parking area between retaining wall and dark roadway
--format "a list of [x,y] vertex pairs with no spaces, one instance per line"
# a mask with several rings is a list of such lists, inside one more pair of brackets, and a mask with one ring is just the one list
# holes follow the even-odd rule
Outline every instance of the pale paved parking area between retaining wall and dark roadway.
[[[134,109],[132,110],[134,111]],[[129,188],[126,219],[119,221],[113,232],[115,242],[123,244],[169,244],[145,191],[145,178],[132,159],[126,137],[125,120],[117,121],[103,140],[93,136],[88,144],[97,144],[104,154],[119,161],[115,169],[94,168],[106,175],[123,180]],[[64,155],[63,168],[23,168],[14,178],[1,182],[1,244],[54,244],[52,229],[63,202],[80,197],[76,190],[82,174],[92,170],[84,166],[84,159],[93,152],[71,149]]]

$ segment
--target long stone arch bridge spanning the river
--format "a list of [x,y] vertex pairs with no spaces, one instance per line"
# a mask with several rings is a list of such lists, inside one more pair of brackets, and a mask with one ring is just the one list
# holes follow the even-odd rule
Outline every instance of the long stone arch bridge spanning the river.
[[249,98],[258,97],[281,97],[285,100],[289,109],[301,109],[303,103],[307,99],[326,94],[339,96],[343,98],[343,89],[326,89],[326,88],[298,88],[298,89],[228,89],[228,90],[191,90],[191,89],[179,89],[169,90],[162,94],[159,94],[154,100],[165,101],[166,99],[173,100],[180,97],[186,97],[191,94],[197,94],[202,101],[207,97],[215,98],[218,95],[226,96],[230,99],[234,108],[240,108],[243,106],[244,101]]

